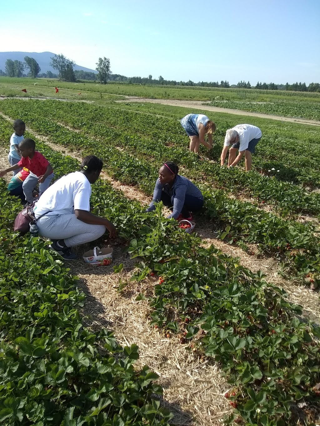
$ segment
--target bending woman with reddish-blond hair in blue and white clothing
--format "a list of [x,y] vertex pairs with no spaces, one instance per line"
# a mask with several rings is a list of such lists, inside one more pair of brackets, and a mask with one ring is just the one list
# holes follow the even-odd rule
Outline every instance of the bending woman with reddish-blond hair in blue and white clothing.
[[[211,150],[212,133],[215,132],[215,123],[203,114],[188,114],[181,119],[181,126],[190,138],[189,149],[191,153],[198,153],[200,144]],[[207,143],[205,135],[208,135]]]

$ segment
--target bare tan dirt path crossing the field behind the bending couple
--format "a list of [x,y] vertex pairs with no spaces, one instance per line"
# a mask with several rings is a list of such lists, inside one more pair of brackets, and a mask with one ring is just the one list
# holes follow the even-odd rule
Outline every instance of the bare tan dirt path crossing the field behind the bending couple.
[[175,99],[148,99],[148,98],[138,98],[135,96],[125,96],[125,99],[123,100],[121,99],[115,102],[118,102],[118,103],[119,102],[145,102],[149,104],[163,104],[163,105],[171,105],[172,107],[196,108],[196,109],[202,109],[204,111],[227,112],[228,114],[247,115],[250,117],[268,118],[271,120],[289,121],[291,123],[312,124],[313,126],[320,126],[320,121],[316,121],[316,120],[306,120],[304,118],[280,117],[278,115],[260,114],[259,112],[241,111],[240,109],[212,107],[209,104],[204,104],[204,101],[180,101]]

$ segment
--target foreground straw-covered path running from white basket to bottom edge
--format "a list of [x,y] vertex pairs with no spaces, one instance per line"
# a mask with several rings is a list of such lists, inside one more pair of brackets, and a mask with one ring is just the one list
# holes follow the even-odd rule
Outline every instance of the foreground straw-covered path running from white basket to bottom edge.
[[[68,263],[71,273],[79,276],[79,287],[87,294],[84,322],[94,329],[110,328],[122,345],[139,346],[137,367],[148,365],[159,375],[164,389],[162,402],[174,413],[174,424],[217,425],[230,411],[224,397],[230,389],[218,366],[193,352],[189,344],[180,344],[179,336],[167,338],[150,326],[148,301],[136,301],[136,297],[140,292],[150,294],[157,279],[129,283],[135,271],[134,261],[119,247],[113,265],[120,263],[124,265],[120,273],[114,273],[112,266]],[[122,292],[118,290],[120,280],[128,283]]]

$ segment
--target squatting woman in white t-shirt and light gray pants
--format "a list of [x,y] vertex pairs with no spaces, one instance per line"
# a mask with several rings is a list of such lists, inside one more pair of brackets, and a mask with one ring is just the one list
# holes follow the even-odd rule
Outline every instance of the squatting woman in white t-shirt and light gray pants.
[[[116,236],[116,228],[108,219],[90,213],[91,184],[102,170],[102,161],[88,155],[81,163],[81,171],[69,173],[55,181],[35,204],[39,235],[52,240],[50,248],[64,259],[78,256],[69,248],[91,242],[108,229],[110,238]],[[41,215],[44,215],[40,218]]]

